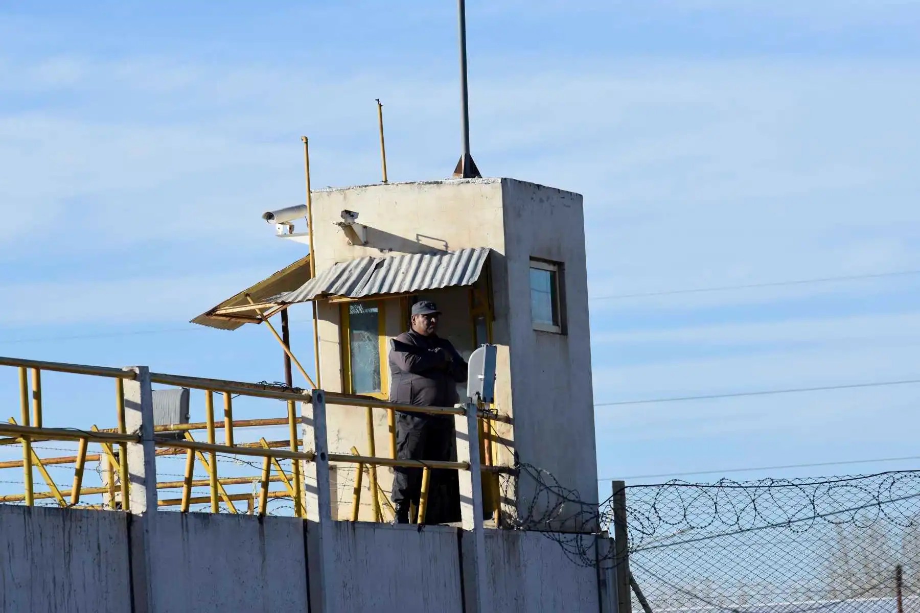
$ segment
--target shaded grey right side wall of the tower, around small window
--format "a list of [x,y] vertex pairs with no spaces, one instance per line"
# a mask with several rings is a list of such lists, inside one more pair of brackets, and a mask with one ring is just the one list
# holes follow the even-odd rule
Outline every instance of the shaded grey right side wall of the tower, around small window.
[[[523,462],[549,471],[563,486],[577,489],[582,500],[596,504],[591,326],[581,196],[503,179],[502,203],[507,292],[512,301],[508,320],[515,446]],[[564,267],[564,334],[533,328],[531,257]],[[522,477],[519,498],[529,499],[534,486]],[[568,510],[576,511],[574,506]],[[577,522],[554,527],[581,529]]]

